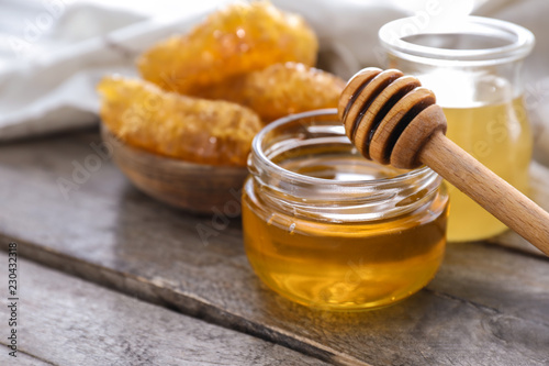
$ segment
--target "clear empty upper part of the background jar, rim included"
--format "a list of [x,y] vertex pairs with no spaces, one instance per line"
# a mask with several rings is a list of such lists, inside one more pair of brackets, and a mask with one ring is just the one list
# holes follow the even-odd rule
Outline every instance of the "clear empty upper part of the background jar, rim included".
[[523,59],[535,42],[528,30],[480,16],[427,29],[413,24],[412,16],[381,27],[386,66],[416,76],[440,106],[506,103],[523,95]]

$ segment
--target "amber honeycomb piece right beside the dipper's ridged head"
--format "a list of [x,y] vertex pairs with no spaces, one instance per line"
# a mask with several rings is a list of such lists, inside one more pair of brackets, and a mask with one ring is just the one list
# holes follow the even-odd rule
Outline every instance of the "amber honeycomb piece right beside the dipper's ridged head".
[[345,81],[303,64],[274,64],[195,92],[253,109],[264,122],[322,108],[337,108]]

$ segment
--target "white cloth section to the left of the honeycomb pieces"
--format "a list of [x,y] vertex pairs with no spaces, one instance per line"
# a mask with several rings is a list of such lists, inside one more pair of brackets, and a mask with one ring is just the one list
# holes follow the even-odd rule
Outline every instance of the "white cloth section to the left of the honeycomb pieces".
[[[134,59],[143,49],[188,30],[221,2],[178,7],[175,19],[167,11],[144,15],[132,8],[66,0],[4,0],[0,140],[97,123],[94,88],[102,76],[134,75]],[[161,0],[155,3],[169,9]]]

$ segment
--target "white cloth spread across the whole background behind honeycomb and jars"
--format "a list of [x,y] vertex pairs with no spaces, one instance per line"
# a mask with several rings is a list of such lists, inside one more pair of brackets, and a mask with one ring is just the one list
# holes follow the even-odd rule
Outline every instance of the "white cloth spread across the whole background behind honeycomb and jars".
[[[134,59],[154,42],[184,32],[229,2],[3,0],[0,2],[0,141],[97,123],[96,85],[103,75],[135,75]],[[326,66],[343,77],[379,65],[378,29],[428,11],[427,0],[273,0],[301,13],[318,34]],[[447,13],[470,11],[529,27],[537,46],[528,58],[535,117],[549,115],[547,0],[438,0]],[[468,9],[469,8],[469,9]],[[549,164],[549,118],[537,123],[536,157]],[[545,124],[544,124],[545,122]]]

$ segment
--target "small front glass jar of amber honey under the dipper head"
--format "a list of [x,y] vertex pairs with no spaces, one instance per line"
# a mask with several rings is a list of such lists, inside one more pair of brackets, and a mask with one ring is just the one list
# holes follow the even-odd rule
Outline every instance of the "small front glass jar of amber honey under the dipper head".
[[244,243],[260,279],[329,310],[395,303],[435,276],[448,195],[428,167],[367,160],[336,110],[295,114],[254,140],[243,193]]

